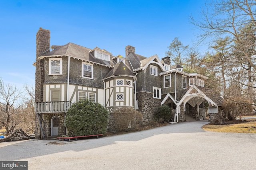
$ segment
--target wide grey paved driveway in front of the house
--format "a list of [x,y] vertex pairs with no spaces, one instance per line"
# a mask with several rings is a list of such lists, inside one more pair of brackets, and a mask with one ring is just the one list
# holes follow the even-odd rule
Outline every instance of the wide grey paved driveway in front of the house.
[[27,160],[29,170],[254,170],[256,134],[217,133],[191,121],[78,141],[0,143],[0,160]]

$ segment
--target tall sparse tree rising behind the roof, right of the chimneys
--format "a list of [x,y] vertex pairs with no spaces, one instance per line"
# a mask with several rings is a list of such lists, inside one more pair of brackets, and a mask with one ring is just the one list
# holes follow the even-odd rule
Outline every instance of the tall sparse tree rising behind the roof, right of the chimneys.
[[168,51],[165,52],[165,54],[171,58],[171,60],[175,63],[175,64],[180,64],[182,65],[183,63],[183,58],[182,57],[182,53],[188,49],[188,45],[184,46],[181,41],[179,40],[178,37],[175,37],[172,40],[172,43],[170,44],[170,46],[168,47]]

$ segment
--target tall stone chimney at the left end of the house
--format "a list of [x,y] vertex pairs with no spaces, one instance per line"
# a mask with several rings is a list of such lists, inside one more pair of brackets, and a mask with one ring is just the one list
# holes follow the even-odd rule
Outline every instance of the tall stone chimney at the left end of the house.
[[35,102],[43,102],[44,90],[44,59],[38,59],[46,52],[50,52],[50,30],[39,28],[36,33],[36,82]]

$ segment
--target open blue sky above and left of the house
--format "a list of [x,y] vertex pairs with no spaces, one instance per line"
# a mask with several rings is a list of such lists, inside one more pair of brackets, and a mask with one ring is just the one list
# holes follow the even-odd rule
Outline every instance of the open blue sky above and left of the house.
[[196,41],[197,18],[204,0],[0,0],[0,78],[5,84],[35,84],[36,32],[49,29],[51,45],[69,42],[125,56],[161,59],[175,37]]

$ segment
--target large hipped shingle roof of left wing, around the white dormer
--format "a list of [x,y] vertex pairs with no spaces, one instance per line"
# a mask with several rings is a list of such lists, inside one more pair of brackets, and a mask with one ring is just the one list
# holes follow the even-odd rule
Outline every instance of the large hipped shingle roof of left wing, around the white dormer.
[[[98,47],[96,47],[98,48]],[[94,49],[96,49],[94,48]],[[90,53],[91,49],[82,47],[80,45],[76,45],[74,43],[67,43],[66,45],[62,45],[58,47],[57,49],[50,51],[49,53],[46,53],[38,59],[46,58],[46,57],[62,57],[62,56],[69,56],[74,59],[80,59],[82,61],[90,62],[90,63],[96,63],[104,66],[109,66],[112,67],[113,63],[110,62],[112,61],[111,59],[113,56],[110,56],[110,61],[105,61],[101,59],[97,59]],[[106,50],[101,50],[101,51],[106,51]],[[106,51],[109,53],[108,51]],[[110,53],[111,54],[111,53]]]

